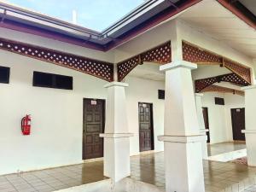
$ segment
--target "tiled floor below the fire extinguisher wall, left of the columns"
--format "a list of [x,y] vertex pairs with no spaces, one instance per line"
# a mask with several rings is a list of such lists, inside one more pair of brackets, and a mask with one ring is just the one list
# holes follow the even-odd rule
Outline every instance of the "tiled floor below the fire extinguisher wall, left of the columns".
[[0,176],[0,192],[47,192],[102,180],[102,161]]

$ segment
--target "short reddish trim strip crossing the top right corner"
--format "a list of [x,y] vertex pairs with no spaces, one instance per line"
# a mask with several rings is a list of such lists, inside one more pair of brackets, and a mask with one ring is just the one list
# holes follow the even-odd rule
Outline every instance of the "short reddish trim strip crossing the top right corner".
[[220,3],[222,6],[224,6],[225,9],[229,9],[230,12],[232,12],[234,15],[236,15],[237,17],[239,17],[241,20],[243,20],[244,22],[247,23],[247,25],[252,26],[253,29],[256,29],[256,23],[253,22],[253,20],[250,20],[249,18],[247,18],[246,15],[244,15],[241,10],[236,9],[236,7],[234,5],[232,5],[232,3],[229,3],[228,0],[217,0],[218,3]]

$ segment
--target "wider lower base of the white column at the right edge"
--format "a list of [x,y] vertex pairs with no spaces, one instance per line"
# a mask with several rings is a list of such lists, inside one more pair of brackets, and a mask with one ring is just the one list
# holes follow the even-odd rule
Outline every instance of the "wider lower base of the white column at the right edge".
[[247,164],[248,166],[256,166],[256,130],[242,130],[245,134],[247,143]]

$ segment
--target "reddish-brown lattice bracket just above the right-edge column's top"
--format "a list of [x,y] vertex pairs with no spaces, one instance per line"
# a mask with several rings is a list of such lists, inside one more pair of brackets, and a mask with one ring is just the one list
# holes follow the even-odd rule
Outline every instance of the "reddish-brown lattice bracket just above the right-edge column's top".
[[241,64],[227,59],[223,60],[224,67],[230,69],[233,73],[239,75],[248,84],[251,84],[251,70],[249,67],[243,67]]

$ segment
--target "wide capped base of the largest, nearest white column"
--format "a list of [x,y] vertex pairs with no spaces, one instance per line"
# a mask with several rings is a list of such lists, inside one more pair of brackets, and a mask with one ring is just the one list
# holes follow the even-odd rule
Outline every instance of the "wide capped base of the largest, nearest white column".
[[166,192],[205,192],[201,142],[206,136],[160,136],[165,143]]

